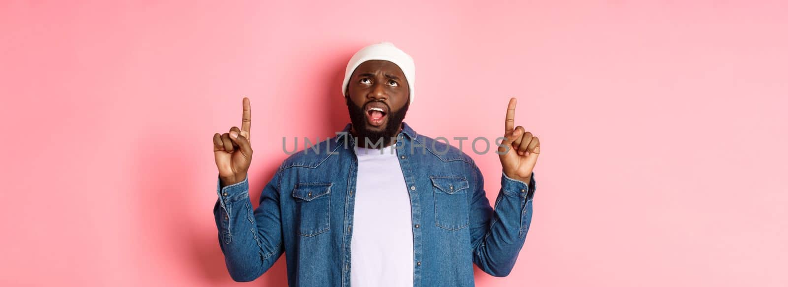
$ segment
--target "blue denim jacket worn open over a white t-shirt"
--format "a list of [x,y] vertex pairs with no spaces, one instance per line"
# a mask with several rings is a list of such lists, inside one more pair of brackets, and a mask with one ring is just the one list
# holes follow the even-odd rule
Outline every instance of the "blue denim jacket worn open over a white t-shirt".
[[[255,280],[286,252],[289,285],[350,285],[358,164],[349,130],[285,159],[257,209],[247,180],[217,183],[214,215],[232,279]],[[502,173],[493,211],[474,160],[456,147],[403,123],[396,152],[411,197],[413,285],[472,286],[472,263],[509,274],[531,222],[533,175],[525,184]]]

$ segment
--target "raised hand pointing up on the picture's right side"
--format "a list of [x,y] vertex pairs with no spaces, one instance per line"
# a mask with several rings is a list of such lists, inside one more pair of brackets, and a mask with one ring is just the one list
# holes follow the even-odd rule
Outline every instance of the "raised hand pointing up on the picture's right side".
[[506,139],[498,147],[498,155],[507,177],[528,184],[539,158],[539,138],[522,126],[515,128],[516,106],[517,99],[511,98],[506,110]]

